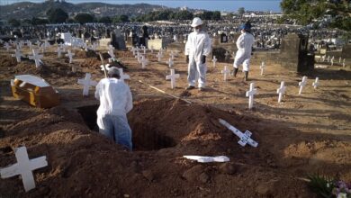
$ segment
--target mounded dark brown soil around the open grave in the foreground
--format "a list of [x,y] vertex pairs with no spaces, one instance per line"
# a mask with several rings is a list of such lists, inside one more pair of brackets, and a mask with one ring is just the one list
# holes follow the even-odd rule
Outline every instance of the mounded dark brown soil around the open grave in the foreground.
[[[95,108],[56,107],[6,125],[0,140],[1,167],[15,163],[12,148],[20,145],[28,148],[30,158],[47,156],[49,166],[34,171],[37,188],[31,192],[24,193],[22,181],[15,176],[0,180],[0,195],[313,197],[299,176],[316,166],[321,172],[340,175],[350,168],[347,163],[334,166],[333,160],[341,160],[340,156],[329,155],[329,162],[313,163],[304,158],[331,151],[347,155],[345,148],[350,146],[345,142],[323,141],[327,138],[323,135],[303,135],[272,122],[168,98],[134,103],[128,115],[134,151],[128,152],[89,130],[94,129],[91,112]],[[251,130],[258,148],[240,147],[219,118],[239,130]],[[310,139],[309,146],[302,139]],[[275,146],[276,140],[283,143]],[[200,164],[183,155],[226,155],[230,162]]]

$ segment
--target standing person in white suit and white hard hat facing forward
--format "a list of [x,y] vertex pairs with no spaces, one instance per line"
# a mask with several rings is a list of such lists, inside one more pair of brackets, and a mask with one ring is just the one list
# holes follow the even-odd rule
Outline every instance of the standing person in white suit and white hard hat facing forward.
[[193,32],[188,36],[185,44],[186,63],[188,63],[188,87],[186,90],[195,88],[196,80],[200,91],[206,86],[206,57],[211,53],[211,39],[202,30],[202,20],[193,18]]

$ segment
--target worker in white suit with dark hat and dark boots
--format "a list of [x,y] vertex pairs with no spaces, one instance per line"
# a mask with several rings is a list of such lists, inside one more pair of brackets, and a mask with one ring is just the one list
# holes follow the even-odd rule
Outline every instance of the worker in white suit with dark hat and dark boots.
[[243,65],[243,71],[245,73],[245,81],[247,81],[248,71],[250,68],[250,58],[252,52],[252,46],[254,45],[255,38],[254,36],[249,33],[251,28],[250,24],[243,24],[240,26],[241,35],[238,37],[237,40],[237,54],[235,55],[234,59],[234,71],[233,76],[237,76],[238,73],[238,66]]

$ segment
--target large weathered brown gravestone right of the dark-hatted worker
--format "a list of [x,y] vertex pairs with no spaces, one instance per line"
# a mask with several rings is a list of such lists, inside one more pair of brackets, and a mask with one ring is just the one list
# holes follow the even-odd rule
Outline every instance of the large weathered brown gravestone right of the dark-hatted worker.
[[281,65],[296,72],[312,72],[314,55],[308,54],[308,36],[287,34],[280,50]]

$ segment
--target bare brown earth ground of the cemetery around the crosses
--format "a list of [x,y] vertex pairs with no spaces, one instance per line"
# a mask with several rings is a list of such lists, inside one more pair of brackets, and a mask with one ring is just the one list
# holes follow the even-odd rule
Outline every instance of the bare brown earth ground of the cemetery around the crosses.
[[[0,49],[0,167],[14,164],[13,149],[22,145],[30,158],[46,156],[49,163],[34,171],[37,187],[28,193],[18,176],[0,179],[0,197],[315,197],[304,179],[309,174],[351,182],[350,67],[317,68],[299,95],[302,76],[284,67],[266,62],[260,76],[259,64],[253,64],[248,82],[241,71],[224,82],[220,71],[232,69],[232,63],[212,67],[207,58],[207,90],[184,91],[183,55],[175,58],[180,77],[171,89],[169,52],[163,63],[156,52],[148,52],[148,66],[142,69],[130,51],[115,51],[128,67],[124,72],[130,75],[134,101],[128,114],[134,150],[128,152],[96,132],[94,88],[83,97],[76,83],[85,72],[95,81],[103,78],[101,61],[74,52],[69,64],[49,49],[37,70],[32,60],[17,63],[13,52]],[[78,66],[76,73],[72,65]],[[22,74],[44,78],[58,89],[61,103],[39,109],[14,99],[10,80]],[[314,89],[316,76],[320,86]],[[287,89],[283,103],[277,103],[281,81]],[[248,110],[245,93],[251,82],[257,94]],[[238,145],[218,119],[250,130],[258,147]],[[224,155],[230,161],[202,164],[184,155]]]

